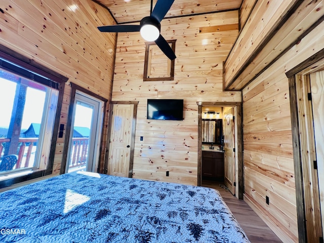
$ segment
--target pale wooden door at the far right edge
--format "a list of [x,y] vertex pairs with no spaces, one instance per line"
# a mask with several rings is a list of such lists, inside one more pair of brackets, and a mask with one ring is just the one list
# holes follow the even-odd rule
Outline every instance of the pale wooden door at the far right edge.
[[[320,195],[321,224],[324,225],[324,71],[310,75],[313,126],[317,161],[318,189]],[[319,226],[320,227],[320,226]],[[322,235],[324,235],[322,229]]]

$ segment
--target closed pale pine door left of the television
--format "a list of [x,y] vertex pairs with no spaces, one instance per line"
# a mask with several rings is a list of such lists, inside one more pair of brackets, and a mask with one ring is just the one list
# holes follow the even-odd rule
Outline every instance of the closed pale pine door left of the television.
[[[131,148],[134,104],[113,104],[109,152],[108,175],[131,177]],[[131,165],[131,166],[130,166]]]

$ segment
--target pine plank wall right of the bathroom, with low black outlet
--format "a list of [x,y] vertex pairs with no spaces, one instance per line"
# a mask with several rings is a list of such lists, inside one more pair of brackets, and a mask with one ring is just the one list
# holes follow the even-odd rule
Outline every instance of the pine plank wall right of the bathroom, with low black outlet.
[[322,22],[242,90],[245,200],[283,242],[298,242],[290,100],[285,73],[322,49],[323,30]]

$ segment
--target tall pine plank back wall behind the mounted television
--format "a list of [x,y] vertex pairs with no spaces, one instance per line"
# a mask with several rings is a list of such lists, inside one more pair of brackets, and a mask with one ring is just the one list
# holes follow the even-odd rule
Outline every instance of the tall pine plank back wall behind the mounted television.
[[[238,11],[163,20],[161,34],[177,40],[173,81],[143,82],[144,40],[137,32],[118,33],[112,100],[139,101],[134,178],[196,185],[196,102],[241,101],[240,92],[222,91],[222,63],[238,30],[215,31],[215,26],[232,24],[238,25]],[[184,99],[184,120],[146,119],[148,98]]]

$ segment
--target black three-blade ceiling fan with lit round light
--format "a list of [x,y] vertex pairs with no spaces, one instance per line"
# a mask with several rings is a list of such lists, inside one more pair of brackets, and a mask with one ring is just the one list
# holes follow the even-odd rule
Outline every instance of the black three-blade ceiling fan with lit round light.
[[148,42],[155,44],[163,51],[166,56],[174,60],[176,55],[166,39],[160,34],[160,22],[166,16],[174,0],[158,0],[152,11],[153,0],[151,0],[150,16],[144,17],[140,25],[106,25],[99,26],[101,32],[137,32],[140,31],[142,37]]

